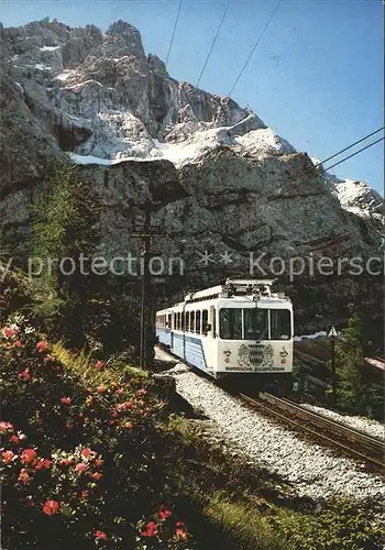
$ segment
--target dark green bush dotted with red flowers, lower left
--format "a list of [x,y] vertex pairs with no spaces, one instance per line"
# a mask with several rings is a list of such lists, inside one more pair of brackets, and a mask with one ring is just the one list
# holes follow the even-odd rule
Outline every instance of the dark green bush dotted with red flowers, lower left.
[[[142,548],[136,521],[170,498],[156,429],[164,406],[147,374],[51,345],[22,316],[1,331],[0,361],[7,548]],[[163,537],[182,549],[186,532],[174,521]]]

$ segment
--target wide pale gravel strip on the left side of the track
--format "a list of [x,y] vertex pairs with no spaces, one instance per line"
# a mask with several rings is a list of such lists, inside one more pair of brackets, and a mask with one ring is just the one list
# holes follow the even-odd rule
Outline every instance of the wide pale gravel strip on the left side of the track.
[[360,501],[383,503],[385,482],[353,460],[300,439],[250,409],[237,397],[191,372],[183,363],[164,372],[176,380],[177,392],[213,420],[218,435],[248,461],[289,482],[299,496],[326,498],[338,493]]

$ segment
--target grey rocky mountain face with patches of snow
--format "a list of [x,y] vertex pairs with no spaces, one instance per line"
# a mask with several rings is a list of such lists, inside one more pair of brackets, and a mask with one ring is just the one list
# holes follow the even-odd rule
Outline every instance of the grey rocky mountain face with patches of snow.
[[138,249],[129,229],[145,204],[166,232],[154,249],[190,272],[248,272],[250,253],[378,250],[382,199],[366,184],[320,174],[250,109],[173,79],[129,23],[102,34],[43,20],[1,28],[0,41],[4,224],[28,222],[47,164],[67,152],[102,197],[108,255]]

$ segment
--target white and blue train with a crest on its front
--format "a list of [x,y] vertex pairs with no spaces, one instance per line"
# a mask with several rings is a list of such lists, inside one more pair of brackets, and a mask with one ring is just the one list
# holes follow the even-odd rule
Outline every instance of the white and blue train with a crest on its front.
[[273,280],[231,280],[156,312],[160,344],[216,378],[293,371],[293,305]]

